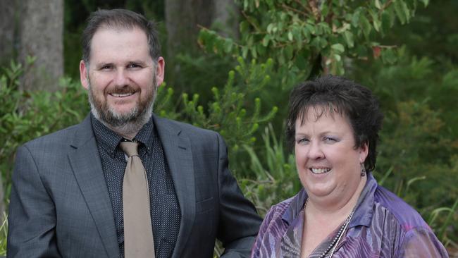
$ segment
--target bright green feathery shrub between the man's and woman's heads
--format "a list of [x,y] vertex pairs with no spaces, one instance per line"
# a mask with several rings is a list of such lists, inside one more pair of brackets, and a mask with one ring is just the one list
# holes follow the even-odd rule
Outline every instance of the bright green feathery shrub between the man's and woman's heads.
[[[254,97],[264,89],[270,81],[273,61],[266,63],[246,63],[241,57],[238,65],[228,73],[224,87],[211,87],[213,96],[206,108],[199,100],[199,94],[192,97],[183,93],[181,104],[171,104],[173,90],[165,87],[159,89],[156,108],[160,116],[187,121],[200,128],[215,130],[220,133],[229,147],[230,159],[237,159],[237,154],[243,152],[242,145],[252,145],[256,137],[254,133],[260,123],[266,123],[275,116],[276,106],[264,113],[261,110],[261,99]],[[164,94],[163,92],[167,92]],[[234,163],[234,162],[233,162]],[[233,172],[242,170],[233,168]]]

